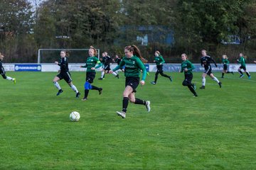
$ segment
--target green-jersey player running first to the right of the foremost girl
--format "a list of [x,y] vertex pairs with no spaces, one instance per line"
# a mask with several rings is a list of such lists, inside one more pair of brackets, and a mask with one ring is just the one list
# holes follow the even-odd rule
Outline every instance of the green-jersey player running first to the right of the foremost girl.
[[164,64],[164,58],[163,56],[161,56],[160,52],[159,51],[156,51],[154,53],[155,57],[154,57],[154,62],[156,63],[156,74],[155,74],[155,80],[154,81],[151,81],[151,84],[156,84],[156,81],[158,79],[158,75],[160,74],[162,77],[166,77],[168,79],[170,79],[170,81],[172,81],[171,77],[164,74],[164,71],[163,71],[163,64]]

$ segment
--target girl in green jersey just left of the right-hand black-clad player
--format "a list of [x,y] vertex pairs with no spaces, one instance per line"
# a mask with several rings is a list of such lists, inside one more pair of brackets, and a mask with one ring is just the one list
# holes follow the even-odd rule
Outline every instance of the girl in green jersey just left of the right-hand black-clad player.
[[181,60],[183,61],[181,63],[181,72],[184,71],[184,76],[185,76],[185,79],[182,85],[188,86],[188,89],[192,92],[194,97],[197,97],[198,95],[196,94],[196,84],[191,83],[193,79],[192,70],[195,69],[195,67],[190,61],[188,61],[188,56],[185,53],[181,55]]

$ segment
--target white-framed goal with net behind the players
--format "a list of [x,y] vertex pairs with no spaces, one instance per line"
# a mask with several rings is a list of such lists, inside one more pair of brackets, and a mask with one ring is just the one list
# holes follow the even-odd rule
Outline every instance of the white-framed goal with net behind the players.
[[[41,63],[53,63],[60,58],[60,51],[67,50],[69,52],[68,62],[69,63],[84,63],[86,58],[89,56],[89,48],[69,48],[69,49],[52,49],[52,48],[41,48],[38,50],[38,64]],[[97,57],[100,59],[100,49],[97,50]]]

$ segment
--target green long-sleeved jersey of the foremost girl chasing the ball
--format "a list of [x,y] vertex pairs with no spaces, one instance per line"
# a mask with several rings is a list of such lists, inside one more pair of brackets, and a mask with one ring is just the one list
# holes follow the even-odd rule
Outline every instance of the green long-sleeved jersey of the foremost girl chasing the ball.
[[124,57],[120,64],[113,69],[113,71],[116,71],[117,69],[120,69],[123,66],[125,66],[125,77],[140,77],[142,70],[142,80],[146,79],[146,68],[142,60],[140,60],[139,57],[137,57],[136,55],[132,56],[131,58]]

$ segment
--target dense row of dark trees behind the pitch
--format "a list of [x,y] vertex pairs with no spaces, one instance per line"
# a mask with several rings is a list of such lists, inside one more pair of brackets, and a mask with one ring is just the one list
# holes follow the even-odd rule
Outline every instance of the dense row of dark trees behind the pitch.
[[[2,0],[0,51],[5,62],[37,62],[39,48],[94,45],[123,56],[124,46],[135,44],[149,62],[155,50],[166,62],[181,62],[183,52],[198,62],[202,49],[217,62],[223,54],[235,62],[239,52],[250,62],[255,60],[255,16],[254,0],[45,0],[38,6]],[[139,30],[142,27],[154,30]],[[171,44],[151,40],[142,45],[137,40],[146,34],[164,39],[168,33],[173,35]],[[238,36],[240,45],[223,45],[230,35]]]

